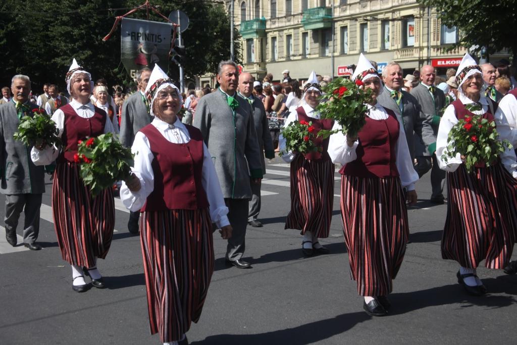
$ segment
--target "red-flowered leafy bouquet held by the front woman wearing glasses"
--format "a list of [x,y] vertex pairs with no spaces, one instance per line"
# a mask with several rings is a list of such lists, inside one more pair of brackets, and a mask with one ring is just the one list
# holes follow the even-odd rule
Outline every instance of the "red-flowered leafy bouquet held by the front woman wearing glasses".
[[112,133],[80,140],[78,144],[78,153],[73,160],[81,163],[81,177],[93,196],[97,196],[103,189],[112,188],[116,181],[131,176],[134,155]]

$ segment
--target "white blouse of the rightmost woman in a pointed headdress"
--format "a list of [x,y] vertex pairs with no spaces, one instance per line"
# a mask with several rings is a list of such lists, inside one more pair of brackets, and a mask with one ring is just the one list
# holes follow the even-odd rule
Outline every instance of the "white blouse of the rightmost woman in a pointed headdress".
[[[474,103],[473,100],[467,98],[466,96],[458,93],[458,99],[463,104],[471,104]],[[489,103],[486,97],[482,96],[479,99],[479,103],[481,103],[481,110],[473,111],[476,115],[482,115],[488,111]],[[497,128],[497,132],[499,133],[499,139],[507,139],[510,142],[511,140],[511,129],[508,126],[508,122],[506,121],[506,117],[502,111],[496,111],[495,115],[495,124]],[[447,145],[449,144],[448,136],[452,127],[458,123],[458,118],[454,112],[454,106],[449,104],[447,109],[445,109],[444,115],[442,116],[442,120],[440,121],[440,125],[438,127],[438,135],[436,137],[436,158],[438,160],[438,165],[440,169],[445,171],[453,172],[460,164],[463,163],[461,160],[461,155],[458,153],[456,157],[449,158],[447,163],[442,159],[442,155],[447,153]],[[515,152],[513,149],[506,149],[505,152],[501,153],[499,156],[501,158],[501,163],[508,170],[510,174],[514,178],[517,178],[517,162],[515,162]]]

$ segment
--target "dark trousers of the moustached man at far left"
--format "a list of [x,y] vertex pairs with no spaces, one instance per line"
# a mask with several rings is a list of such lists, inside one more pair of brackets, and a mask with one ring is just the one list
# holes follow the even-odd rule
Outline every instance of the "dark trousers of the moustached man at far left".
[[23,243],[34,243],[39,234],[39,209],[41,193],[10,194],[5,196],[5,232],[16,235],[22,211],[25,215]]

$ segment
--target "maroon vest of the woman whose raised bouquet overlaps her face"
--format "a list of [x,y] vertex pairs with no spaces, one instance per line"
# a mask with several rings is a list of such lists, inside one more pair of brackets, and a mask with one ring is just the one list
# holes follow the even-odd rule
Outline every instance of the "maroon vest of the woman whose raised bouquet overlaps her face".
[[346,163],[339,171],[341,174],[380,178],[399,176],[395,145],[399,139],[400,124],[392,110],[384,109],[388,113],[387,119],[366,117],[366,124],[358,133],[357,159]]

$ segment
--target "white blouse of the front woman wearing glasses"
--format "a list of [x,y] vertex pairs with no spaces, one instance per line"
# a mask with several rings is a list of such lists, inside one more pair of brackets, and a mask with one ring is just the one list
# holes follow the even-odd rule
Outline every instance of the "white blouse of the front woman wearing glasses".
[[[174,144],[186,144],[190,141],[189,131],[184,124],[176,119],[173,127],[155,117],[151,125],[162,134],[162,136],[169,142]],[[139,211],[145,204],[147,197],[154,189],[154,172],[151,164],[153,163],[153,153],[150,149],[149,140],[142,132],[137,132],[134,137],[132,152],[135,154],[134,167],[131,171],[140,179],[141,188],[138,192],[132,192],[122,182],[120,188],[120,200],[128,209],[133,212]],[[173,167],[171,167],[173,168]],[[209,212],[212,222],[215,222],[219,228],[230,224],[228,217],[228,208],[224,204],[223,193],[221,185],[217,177],[216,168],[208,148],[203,143],[203,172],[202,181],[203,188],[209,203]]]

